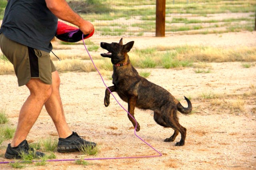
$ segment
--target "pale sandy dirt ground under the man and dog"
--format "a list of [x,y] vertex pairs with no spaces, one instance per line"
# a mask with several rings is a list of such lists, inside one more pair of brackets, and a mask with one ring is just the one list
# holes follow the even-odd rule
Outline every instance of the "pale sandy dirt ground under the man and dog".
[[[107,40],[91,39],[100,42],[117,42],[120,38]],[[176,46],[209,45],[219,47],[255,46],[256,32],[240,32],[208,35],[168,36],[165,38],[124,38],[123,42],[134,40],[134,47],[144,48],[154,45]],[[74,47],[84,50],[83,45]],[[69,51],[72,51],[70,49]],[[83,51],[84,52],[84,51]],[[98,54],[100,55],[100,53]],[[44,166],[26,165],[26,169],[180,169],[180,170],[254,170],[256,168],[256,66],[242,67],[240,62],[207,63],[210,73],[195,73],[194,67],[182,69],[149,69],[147,78],[181,99],[191,97],[193,113],[178,113],[180,124],[187,128],[184,146],[174,142],[163,142],[174,130],[157,125],[150,110],[135,110],[135,117],[141,130],[137,132],[162,156],[152,158],[123,158],[108,160],[88,160],[88,166],[76,165],[75,161],[48,162]],[[138,69],[140,71],[140,69]],[[60,73],[62,80],[60,93],[71,130],[80,136],[98,143],[100,151],[96,156],[84,158],[116,158],[131,156],[159,155],[134,135],[127,113],[110,96],[110,106],[105,107],[106,87],[97,72]],[[104,77],[106,85],[112,81]],[[10,122],[16,127],[19,110],[29,91],[18,87],[15,75],[0,75],[0,109],[6,109]],[[203,94],[211,94],[212,99],[202,99]],[[127,104],[118,101],[127,108]],[[244,109],[236,109],[235,103],[244,101]],[[56,129],[45,108],[30,131],[27,140],[37,142],[42,138],[58,138]],[[0,162],[4,158],[7,144],[0,145]],[[76,159],[79,152],[56,154],[56,159]],[[8,164],[0,164],[0,169],[10,169]]]

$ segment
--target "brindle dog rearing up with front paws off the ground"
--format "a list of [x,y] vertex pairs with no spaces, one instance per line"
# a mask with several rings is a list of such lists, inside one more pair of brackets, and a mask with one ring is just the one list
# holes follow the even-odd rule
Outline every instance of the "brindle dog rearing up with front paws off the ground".
[[[108,87],[111,92],[117,92],[119,97],[128,103],[128,112],[134,117],[134,108],[150,109],[154,111],[154,120],[163,127],[174,129],[174,134],[170,138],[166,138],[164,142],[172,142],[176,136],[181,134],[180,142],[176,146],[183,146],[186,138],[186,128],[182,127],[178,122],[177,110],[183,114],[192,111],[192,104],[185,97],[188,107],[183,107],[180,102],[175,99],[166,89],[151,83],[144,77],[141,77],[136,69],[132,66],[128,52],[132,48],[134,41],[123,45],[122,38],[119,43],[101,42],[100,47],[108,50],[108,53],[102,53],[102,57],[111,58],[113,64],[113,86]],[[104,105],[108,107],[110,92],[105,91]],[[135,127],[136,122],[128,114],[128,118]],[[136,131],[140,130],[137,123]]]

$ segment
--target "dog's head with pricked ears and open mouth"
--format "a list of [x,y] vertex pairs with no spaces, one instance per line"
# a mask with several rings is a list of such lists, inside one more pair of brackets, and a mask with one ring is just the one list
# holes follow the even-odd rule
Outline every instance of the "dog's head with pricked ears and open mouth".
[[108,53],[102,53],[100,55],[102,57],[111,58],[112,64],[117,64],[121,61],[127,60],[128,55],[126,55],[126,54],[130,51],[130,49],[132,49],[133,44],[134,44],[134,41],[128,42],[125,45],[123,45],[123,38],[120,39],[119,43],[101,42],[100,47],[108,50]]

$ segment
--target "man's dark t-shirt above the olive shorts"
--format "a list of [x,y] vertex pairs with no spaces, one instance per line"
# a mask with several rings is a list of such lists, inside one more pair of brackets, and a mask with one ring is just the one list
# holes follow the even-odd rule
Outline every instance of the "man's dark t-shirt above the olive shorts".
[[45,0],[8,0],[0,32],[13,41],[50,52],[57,24],[58,18]]

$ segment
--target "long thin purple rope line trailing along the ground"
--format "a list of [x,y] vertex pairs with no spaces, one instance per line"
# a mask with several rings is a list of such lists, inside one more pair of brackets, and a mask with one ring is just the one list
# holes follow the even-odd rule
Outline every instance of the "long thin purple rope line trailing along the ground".
[[[82,35],[82,40],[84,43],[84,34]],[[84,43],[84,47],[92,61],[92,64],[94,65],[95,69],[98,71],[100,78],[102,79],[102,82],[104,83],[104,85],[106,86],[106,88],[108,89],[108,86],[105,84],[105,81],[102,77],[102,75],[100,74],[100,71],[98,70],[98,68],[96,67],[96,65],[94,64],[92,57],[88,51],[88,49],[86,48],[86,45]],[[118,100],[116,99],[116,97],[113,95],[113,93],[110,91],[110,89],[108,89],[108,91],[111,93],[111,95],[114,97],[114,99],[116,100],[116,102],[124,109],[124,111],[126,111],[130,117],[132,117],[132,115],[118,102]],[[134,134],[135,136],[137,136],[142,142],[144,142],[145,144],[147,144],[150,148],[152,148],[154,151],[156,151],[159,155],[149,155],[149,156],[130,156],[130,157],[113,157],[113,158],[85,158],[83,160],[106,160],[106,159],[132,159],[132,158],[152,158],[152,157],[159,157],[162,156],[162,153],[159,152],[158,150],[156,150],[155,148],[153,148],[153,146],[151,146],[148,142],[146,142],[145,140],[143,140],[140,136],[138,136],[136,134],[136,128],[137,128],[137,121],[134,119],[134,117],[132,117],[132,119],[136,122],[136,126],[134,128]],[[55,160],[46,160],[46,162],[59,162],[59,161],[75,161],[75,160],[81,160],[81,159],[55,159]],[[21,162],[25,162],[25,161],[21,161]],[[32,162],[42,162],[42,160],[32,160]],[[0,162],[0,164],[8,164],[8,163],[14,163],[14,161],[10,161],[10,162]]]

